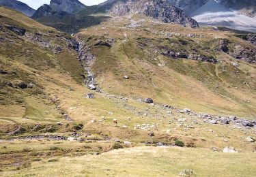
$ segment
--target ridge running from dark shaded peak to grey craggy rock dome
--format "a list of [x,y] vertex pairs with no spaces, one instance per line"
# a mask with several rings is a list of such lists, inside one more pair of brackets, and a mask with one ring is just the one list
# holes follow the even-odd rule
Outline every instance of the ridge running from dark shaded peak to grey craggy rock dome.
[[64,13],[59,10],[62,10],[61,4],[55,3],[55,10],[53,10],[53,1],[51,1],[51,5],[41,6],[33,15],[33,19],[68,33],[75,33],[80,29],[98,25],[100,22],[110,18],[110,16],[124,15],[129,12],[131,14],[150,16],[163,22],[175,22],[184,27],[198,27],[195,20],[186,16],[182,10],[173,7],[167,1],[141,0],[121,2],[115,0],[106,1],[100,5],[85,6],[73,13]]

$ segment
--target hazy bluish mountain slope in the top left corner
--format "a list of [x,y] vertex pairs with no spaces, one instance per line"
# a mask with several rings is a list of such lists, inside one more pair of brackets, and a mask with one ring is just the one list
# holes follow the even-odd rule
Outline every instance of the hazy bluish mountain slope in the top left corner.
[[27,4],[16,0],[0,0],[0,5],[22,12],[27,16],[33,16],[35,10]]

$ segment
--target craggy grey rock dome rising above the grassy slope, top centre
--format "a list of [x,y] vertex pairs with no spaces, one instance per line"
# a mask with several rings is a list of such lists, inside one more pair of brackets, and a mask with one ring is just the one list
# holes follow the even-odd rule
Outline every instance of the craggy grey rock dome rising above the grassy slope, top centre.
[[188,17],[182,10],[166,0],[118,1],[109,12],[118,15],[143,14],[162,22],[174,22],[184,27],[199,27],[193,18]]

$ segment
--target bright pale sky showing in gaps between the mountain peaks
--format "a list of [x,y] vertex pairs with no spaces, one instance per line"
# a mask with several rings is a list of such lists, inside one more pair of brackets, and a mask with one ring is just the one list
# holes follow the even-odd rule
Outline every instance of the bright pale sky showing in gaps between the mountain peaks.
[[[51,0],[18,0],[18,1],[27,3],[27,5],[37,10],[38,7],[40,7],[44,3],[49,4]],[[85,5],[94,5],[94,4],[102,3],[106,0],[79,0],[79,1],[81,1],[81,3],[84,3]]]

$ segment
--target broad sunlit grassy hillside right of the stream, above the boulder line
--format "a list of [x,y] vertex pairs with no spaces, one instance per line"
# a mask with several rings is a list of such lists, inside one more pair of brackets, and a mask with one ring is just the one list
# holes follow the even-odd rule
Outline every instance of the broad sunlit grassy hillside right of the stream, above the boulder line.
[[[255,50],[255,46],[233,37],[231,33],[185,29],[139,19],[138,16],[115,17],[78,34],[87,40],[88,45],[102,39],[117,41],[111,48],[91,44],[91,52],[97,57],[94,72],[98,80],[104,80],[102,88],[105,91],[152,97],[161,103],[199,112],[255,114],[255,65],[216,50],[220,39],[228,39],[230,48],[240,44]],[[130,27],[134,24],[137,27]],[[171,33],[171,37],[167,37],[167,33]],[[189,37],[190,34],[196,37]],[[159,48],[190,53],[197,50],[199,54],[212,56],[220,62],[169,59],[158,54]],[[236,62],[240,67],[232,65]],[[130,79],[124,80],[125,75]]]

